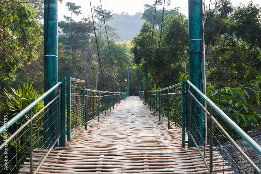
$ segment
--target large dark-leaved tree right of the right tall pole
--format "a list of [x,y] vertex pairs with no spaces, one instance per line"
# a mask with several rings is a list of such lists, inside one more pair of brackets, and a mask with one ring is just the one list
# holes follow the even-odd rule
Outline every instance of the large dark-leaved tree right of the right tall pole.
[[261,9],[253,2],[234,8],[229,0],[220,0],[217,10],[212,30],[216,9],[205,25],[207,60],[219,86],[237,87],[260,75]]

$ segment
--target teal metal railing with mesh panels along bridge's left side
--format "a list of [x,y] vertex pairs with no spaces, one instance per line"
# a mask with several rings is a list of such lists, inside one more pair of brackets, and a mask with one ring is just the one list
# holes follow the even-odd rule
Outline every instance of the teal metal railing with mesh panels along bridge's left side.
[[[49,101],[49,94],[56,97]],[[65,147],[87,122],[99,121],[128,92],[85,89],[85,81],[62,77],[41,97],[15,116],[2,116],[0,125],[0,173],[37,173],[55,147]],[[44,100],[48,101],[44,106]],[[9,117],[9,118],[8,118]],[[67,135],[67,136],[66,136]]]

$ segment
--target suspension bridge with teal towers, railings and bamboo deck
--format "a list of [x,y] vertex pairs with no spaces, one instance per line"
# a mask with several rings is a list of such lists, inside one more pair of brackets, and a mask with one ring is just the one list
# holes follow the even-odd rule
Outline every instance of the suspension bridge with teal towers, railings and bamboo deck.
[[201,0],[189,5],[190,81],[154,91],[139,84],[139,96],[129,96],[58,82],[57,0],[45,1],[44,94],[3,117],[0,173],[260,174],[261,147],[203,93],[202,9]]

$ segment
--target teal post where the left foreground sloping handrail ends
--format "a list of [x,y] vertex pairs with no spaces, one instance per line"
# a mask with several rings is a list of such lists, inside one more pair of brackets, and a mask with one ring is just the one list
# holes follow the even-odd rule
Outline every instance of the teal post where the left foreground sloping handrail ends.
[[65,147],[66,139],[66,77],[62,77],[62,147]]

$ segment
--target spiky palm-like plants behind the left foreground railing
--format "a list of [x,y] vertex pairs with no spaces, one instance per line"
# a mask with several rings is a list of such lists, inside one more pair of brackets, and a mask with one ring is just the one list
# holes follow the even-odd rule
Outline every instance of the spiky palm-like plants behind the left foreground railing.
[[[33,89],[32,84],[24,83],[18,90],[11,88],[13,93],[9,93],[7,90],[4,92],[6,101],[0,104],[0,124],[4,124],[4,116],[8,116],[8,120],[16,116],[19,112],[25,109],[29,104],[38,99],[42,95],[42,91],[37,92]],[[32,109],[32,115],[35,115],[44,107],[44,103],[41,101]],[[29,112],[16,121],[11,127],[8,128],[9,136],[12,135],[17,129],[21,127],[29,119]],[[33,148],[39,148],[44,145],[44,113],[40,113],[33,121]],[[11,173],[16,173],[16,170],[20,169],[20,165],[25,162],[25,158],[29,157],[29,124],[18,133],[9,143],[8,150],[8,171],[14,170]],[[9,137],[8,136],[8,137]],[[6,140],[3,135],[0,135],[0,143],[2,144]],[[3,149],[2,149],[3,150]],[[17,153],[17,159],[20,160],[16,165],[15,154]],[[26,155],[25,155],[26,154]],[[4,156],[0,157],[0,166],[4,164]]]

